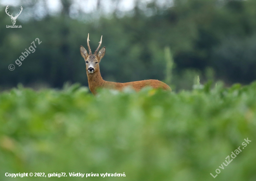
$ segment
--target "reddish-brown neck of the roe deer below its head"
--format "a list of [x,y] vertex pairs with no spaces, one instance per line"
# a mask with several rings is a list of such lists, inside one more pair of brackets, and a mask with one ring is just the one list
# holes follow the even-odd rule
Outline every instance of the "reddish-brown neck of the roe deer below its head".
[[105,80],[103,80],[101,77],[100,69],[94,73],[87,72],[87,77],[88,77],[89,89],[93,94],[96,93],[97,88],[103,87],[105,83]]

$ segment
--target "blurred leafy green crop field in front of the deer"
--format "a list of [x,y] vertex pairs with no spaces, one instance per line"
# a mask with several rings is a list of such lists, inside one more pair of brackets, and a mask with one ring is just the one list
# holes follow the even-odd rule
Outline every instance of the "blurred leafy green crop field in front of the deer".
[[[5,176],[24,172],[46,177]],[[69,176],[92,172],[99,176]],[[179,93],[101,90],[95,97],[77,84],[2,92],[0,181],[21,180],[255,181],[256,82]]]

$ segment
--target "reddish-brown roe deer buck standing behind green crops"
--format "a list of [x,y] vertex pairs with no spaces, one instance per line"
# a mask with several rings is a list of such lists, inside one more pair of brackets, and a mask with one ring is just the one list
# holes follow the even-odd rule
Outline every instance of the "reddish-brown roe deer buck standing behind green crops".
[[121,91],[126,86],[131,86],[135,91],[140,91],[145,86],[151,86],[153,88],[162,88],[164,90],[171,91],[171,88],[159,81],[159,80],[141,80],[135,82],[128,82],[128,83],[115,83],[115,82],[108,82],[102,79],[100,66],[99,63],[101,59],[104,57],[106,48],[105,46],[99,51],[98,55],[97,52],[101,46],[101,41],[99,42],[98,48],[95,50],[94,54],[92,54],[90,45],[89,45],[89,33],[87,38],[87,45],[89,53],[83,46],[80,46],[80,53],[81,56],[84,58],[86,62],[86,70],[87,70],[87,77],[88,77],[88,84],[90,91],[95,95],[97,88],[108,88],[108,89],[115,89]]

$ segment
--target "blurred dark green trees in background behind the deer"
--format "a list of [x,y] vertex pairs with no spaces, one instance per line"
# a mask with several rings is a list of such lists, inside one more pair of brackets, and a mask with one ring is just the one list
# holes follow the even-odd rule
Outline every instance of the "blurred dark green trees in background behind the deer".
[[[152,0],[145,8],[136,0],[130,12],[115,9],[108,15],[102,13],[102,1],[97,1],[98,9],[92,13],[83,13],[86,7],[79,6],[75,15],[71,0],[61,0],[61,13],[55,14],[49,13],[46,0],[20,1],[17,8],[23,6],[23,12],[16,25],[22,28],[6,28],[11,19],[1,6],[1,88],[18,83],[61,87],[66,81],[88,85],[79,52],[80,45],[87,44],[88,32],[93,50],[103,35],[107,50],[101,74],[108,81],[168,80],[164,53],[168,46],[175,63],[171,84],[176,90],[191,89],[188,75],[194,78],[194,72],[205,77],[202,82],[209,80],[209,70],[213,81],[222,79],[226,84],[256,79],[255,0],[174,0],[171,6]],[[120,0],[111,2],[115,8]],[[25,20],[20,22],[22,17]],[[15,65],[35,38],[42,41],[36,51],[9,71],[8,65]]]

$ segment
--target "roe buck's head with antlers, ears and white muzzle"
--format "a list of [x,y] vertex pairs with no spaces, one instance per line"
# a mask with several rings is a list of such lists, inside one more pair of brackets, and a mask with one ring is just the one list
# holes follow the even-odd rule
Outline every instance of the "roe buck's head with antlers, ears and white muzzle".
[[99,42],[100,45],[95,50],[94,54],[92,54],[92,51],[91,51],[91,48],[89,45],[89,41],[90,40],[89,40],[89,33],[88,33],[87,45],[88,45],[89,54],[83,46],[80,46],[80,53],[81,53],[81,56],[85,60],[86,70],[88,71],[88,73],[94,73],[94,72],[100,71],[99,63],[101,61],[101,58],[103,58],[105,55],[106,48],[105,48],[105,46],[103,48],[101,48],[101,50],[99,51],[99,53],[97,55],[97,52],[98,52],[99,48],[101,47],[101,42],[102,42],[102,36],[101,36],[101,41]]

